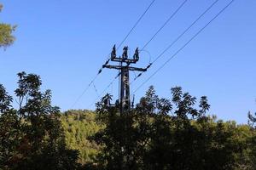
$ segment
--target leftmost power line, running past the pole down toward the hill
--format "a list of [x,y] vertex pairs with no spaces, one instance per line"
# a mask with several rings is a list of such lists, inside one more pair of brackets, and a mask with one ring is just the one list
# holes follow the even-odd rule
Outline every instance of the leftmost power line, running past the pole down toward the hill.
[[[127,37],[130,36],[131,32],[136,28],[136,26],[138,25],[138,23],[143,19],[143,16],[148,12],[148,9],[153,5],[154,2],[155,2],[155,0],[153,0],[153,1],[148,5],[148,8],[146,8],[146,10],[143,12],[143,14],[139,17],[139,19],[137,20],[137,22],[134,24],[134,26],[131,27],[131,30],[126,34],[126,36],[125,36],[125,38],[122,40],[122,42],[120,42],[119,47],[125,42],[125,40],[127,39]],[[119,48],[119,47],[118,47],[118,48]],[[108,54],[107,61],[106,61],[105,65],[108,64],[108,62],[109,62],[109,54]],[[98,71],[98,73],[96,74],[96,77],[94,77],[94,78],[92,79],[92,81],[88,84],[88,86],[87,86],[86,88],[84,88],[84,91],[82,92],[82,94],[79,95],[79,98],[75,100],[75,102],[73,103],[73,105],[71,106],[71,108],[73,108],[73,106],[76,105],[76,104],[79,102],[79,100],[83,97],[83,95],[84,95],[84,94],[87,92],[87,90],[90,88],[91,84],[95,82],[96,78],[99,76],[99,74],[101,74],[102,69],[103,69],[103,68],[101,68],[101,69]],[[115,80],[115,78],[114,78],[114,80]]]

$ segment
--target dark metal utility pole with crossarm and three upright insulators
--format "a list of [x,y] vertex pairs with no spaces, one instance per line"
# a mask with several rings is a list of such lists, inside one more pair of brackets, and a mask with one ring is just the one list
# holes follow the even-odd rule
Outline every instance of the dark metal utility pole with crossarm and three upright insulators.
[[[109,61],[118,62],[119,65],[108,65]],[[130,99],[130,81],[129,81],[129,71],[147,71],[147,68],[137,68],[130,66],[131,64],[136,64],[139,60],[138,48],[135,50],[132,59],[128,57],[128,46],[123,48],[122,56],[117,57],[115,45],[113,46],[111,52],[111,58],[102,65],[103,68],[116,69],[120,71],[121,78],[120,81],[120,95],[119,95],[119,107],[120,114],[123,114],[125,111],[129,111],[131,108],[131,99]]]

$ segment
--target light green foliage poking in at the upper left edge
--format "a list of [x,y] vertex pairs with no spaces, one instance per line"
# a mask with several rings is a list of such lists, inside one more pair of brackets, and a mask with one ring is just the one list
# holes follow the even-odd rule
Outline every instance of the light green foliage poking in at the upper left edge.
[[[0,3],[0,12],[2,9],[3,5]],[[13,36],[15,28],[16,26],[0,23],[0,48],[7,48],[15,42],[15,37]]]

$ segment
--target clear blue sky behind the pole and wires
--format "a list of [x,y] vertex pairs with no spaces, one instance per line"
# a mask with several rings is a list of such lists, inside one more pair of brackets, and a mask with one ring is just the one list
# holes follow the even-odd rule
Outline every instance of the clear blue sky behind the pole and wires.
[[[62,111],[70,109],[95,77],[113,44],[119,44],[150,2],[2,0],[1,22],[16,24],[18,28],[15,44],[6,51],[0,50],[0,82],[13,94],[17,72],[36,73],[43,79],[43,88],[52,90],[54,105],[59,105]],[[212,2],[189,0],[146,48],[151,59]],[[220,0],[131,88],[137,88],[229,2]],[[136,47],[143,47],[180,3],[181,0],[156,0],[124,45],[129,45],[132,53]],[[198,98],[207,95],[212,105],[211,114],[224,120],[246,123],[247,111],[256,110],[255,8],[255,0],[236,0],[195,41],[140,88],[136,98],[139,99],[149,85],[154,85],[157,93],[166,98],[171,97],[170,88],[181,86]],[[142,53],[138,66],[147,65],[148,59],[149,55]],[[102,71],[95,82],[98,93],[116,74],[113,70]],[[108,92],[116,97],[117,90],[118,82],[114,82]],[[91,87],[74,108],[93,109],[90,104],[95,99],[96,92]]]

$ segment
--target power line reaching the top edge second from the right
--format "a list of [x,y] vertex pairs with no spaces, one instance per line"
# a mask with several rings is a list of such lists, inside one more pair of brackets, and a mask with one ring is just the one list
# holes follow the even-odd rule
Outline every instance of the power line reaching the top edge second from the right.
[[[201,19],[201,17],[203,17],[205,14],[207,14],[207,12],[208,12],[216,3],[218,3],[218,1],[219,1],[219,0],[214,1],[201,15],[199,15],[199,16],[197,17],[197,19],[195,19],[194,22],[192,22],[192,24],[189,25],[189,27],[187,27],[187,28],[186,28],[186,29],[185,29],[185,30],[167,47],[167,48],[165,48],[165,50],[163,50],[162,53],[160,53],[160,54],[153,60],[152,63],[150,63],[150,64],[148,65],[147,68],[149,68],[149,67],[150,67],[151,65],[153,65],[158,59],[160,59],[160,57],[161,57],[163,54],[165,54],[167,50],[169,50],[170,48],[172,48],[172,46],[173,46],[181,37],[183,37],[183,35],[184,35],[185,33],[187,33],[187,31],[189,31],[190,28],[191,28],[192,26],[194,26],[194,25],[198,22],[198,20]],[[134,82],[138,77],[141,77],[142,74],[143,74],[143,73],[138,74],[137,77],[135,77],[132,82]],[[131,82],[131,83],[132,83],[132,82]]]

